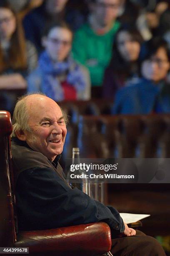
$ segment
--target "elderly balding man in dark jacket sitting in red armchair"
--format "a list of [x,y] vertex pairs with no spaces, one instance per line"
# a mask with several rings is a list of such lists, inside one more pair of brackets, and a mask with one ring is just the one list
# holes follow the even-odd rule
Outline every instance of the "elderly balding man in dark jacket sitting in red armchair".
[[[59,163],[66,117],[45,95],[20,99],[13,114],[12,154],[20,230],[40,230],[104,221],[112,232],[114,255],[163,256],[159,243],[128,228],[113,207],[92,200],[65,181]],[[57,162],[55,161],[55,162]]]

